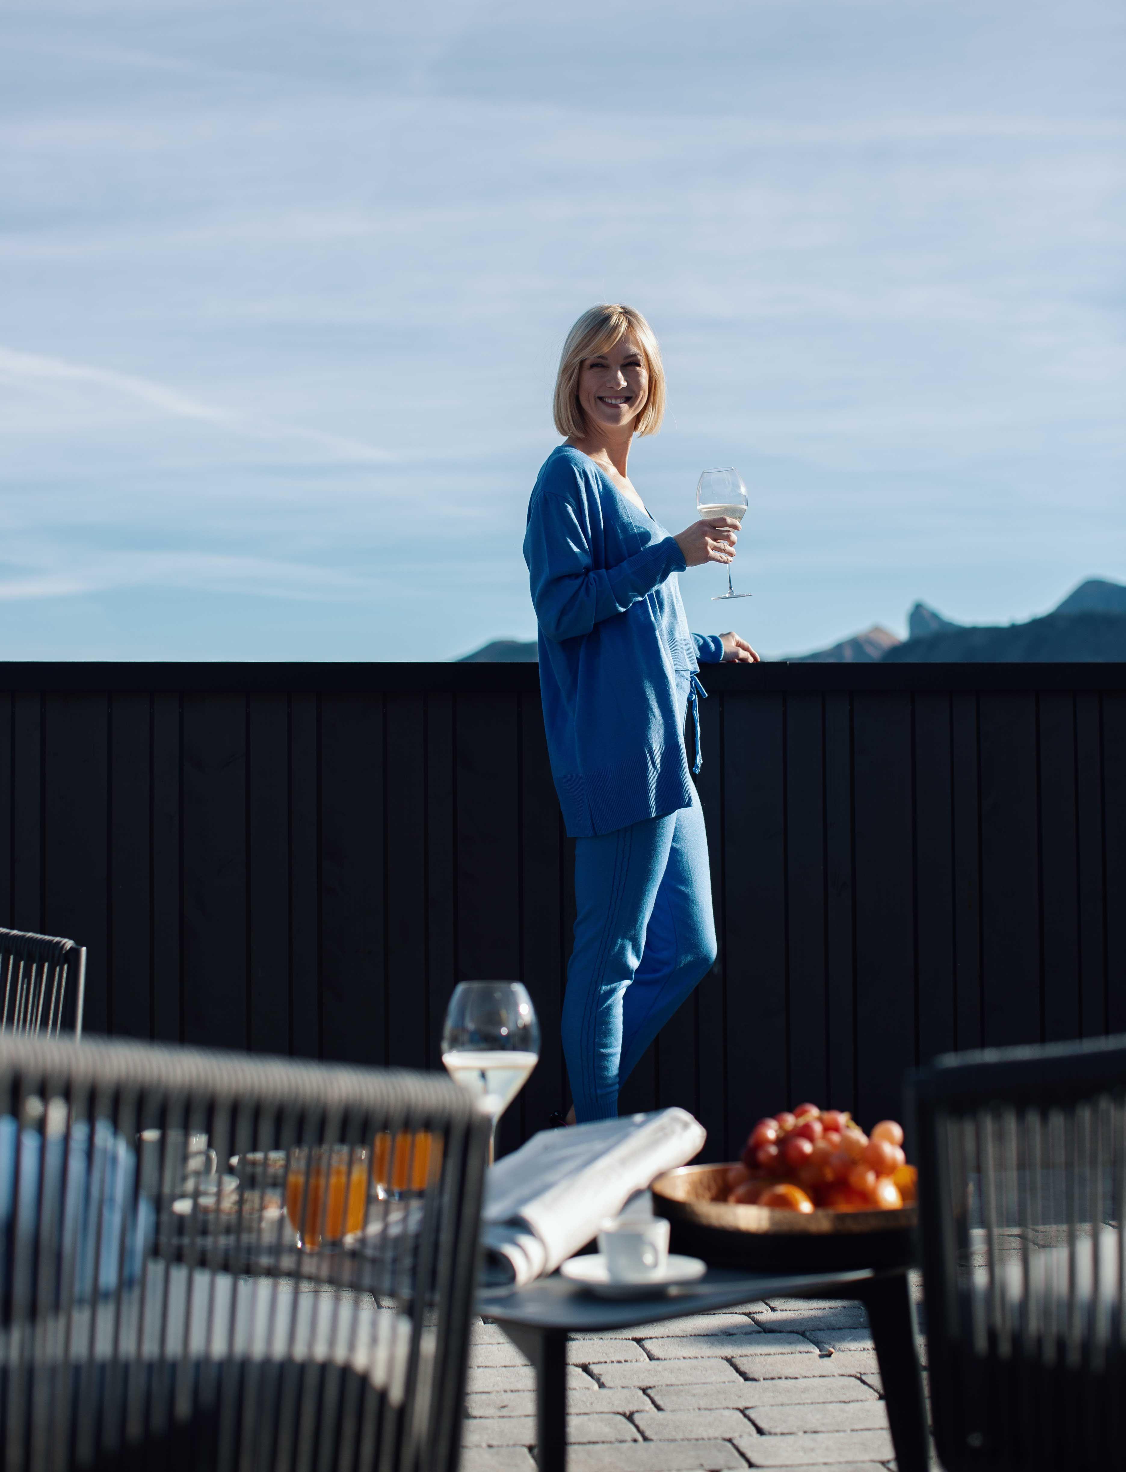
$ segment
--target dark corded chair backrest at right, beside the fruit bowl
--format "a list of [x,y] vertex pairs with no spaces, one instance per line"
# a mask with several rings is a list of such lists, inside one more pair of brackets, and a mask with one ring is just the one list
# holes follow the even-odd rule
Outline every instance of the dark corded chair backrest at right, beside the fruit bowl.
[[952,1054],[908,1100],[943,1466],[1122,1465],[1126,1038]]

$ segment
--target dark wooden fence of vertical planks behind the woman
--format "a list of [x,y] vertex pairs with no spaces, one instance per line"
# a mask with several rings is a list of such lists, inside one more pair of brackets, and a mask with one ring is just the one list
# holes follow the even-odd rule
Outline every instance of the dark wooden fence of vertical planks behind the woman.
[[[730,1156],[871,1122],[948,1048],[1126,1029],[1126,667],[704,673],[720,961],[626,1088]],[[90,949],[96,1032],[440,1066],[528,985],[565,1103],[571,848],[534,665],[0,664],[0,923]]]

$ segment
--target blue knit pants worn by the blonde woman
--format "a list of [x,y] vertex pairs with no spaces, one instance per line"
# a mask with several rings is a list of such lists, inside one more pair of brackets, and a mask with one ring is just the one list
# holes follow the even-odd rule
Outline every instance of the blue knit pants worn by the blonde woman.
[[612,1119],[618,1088],[715,961],[699,798],[576,842],[578,914],[562,1042],[580,1125]]

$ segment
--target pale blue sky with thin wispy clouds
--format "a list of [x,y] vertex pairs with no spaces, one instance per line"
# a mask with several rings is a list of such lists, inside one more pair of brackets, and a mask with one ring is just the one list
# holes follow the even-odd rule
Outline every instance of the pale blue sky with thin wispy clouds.
[[[530,639],[574,318],[765,652],[1126,580],[1120,0],[7,0],[0,659]],[[734,615],[727,614],[734,608]]]

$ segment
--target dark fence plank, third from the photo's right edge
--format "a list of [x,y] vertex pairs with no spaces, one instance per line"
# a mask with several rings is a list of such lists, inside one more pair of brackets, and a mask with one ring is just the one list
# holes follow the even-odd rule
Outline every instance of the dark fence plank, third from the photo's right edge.
[[1041,1033],[1064,1042],[1080,1033],[1079,871],[1076,833],[1074,696],[1039,696],[1038,857],[1044,904],[1041,938]]

